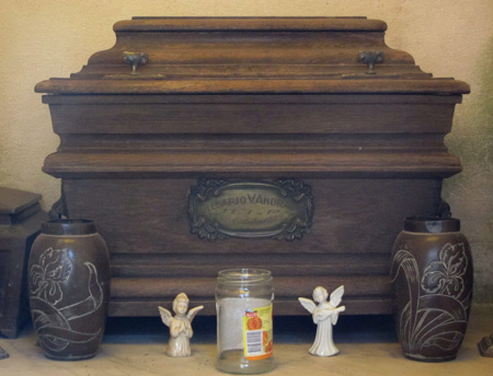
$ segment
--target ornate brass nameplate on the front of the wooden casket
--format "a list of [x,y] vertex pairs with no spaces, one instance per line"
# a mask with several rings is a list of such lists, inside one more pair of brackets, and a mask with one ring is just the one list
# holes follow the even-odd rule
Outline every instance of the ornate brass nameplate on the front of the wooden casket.
[[191,231],[227,237],[300,239],[310,232],[313,198],[301,180],[199,180],[188,196]]

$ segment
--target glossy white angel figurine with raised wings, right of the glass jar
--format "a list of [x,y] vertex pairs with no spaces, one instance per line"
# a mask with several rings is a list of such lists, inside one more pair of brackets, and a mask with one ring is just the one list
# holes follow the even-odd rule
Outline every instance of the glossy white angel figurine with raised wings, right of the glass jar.
[[345,306],[337,307],[341,304],[343,295],[344,286],[340,286],[332,292],[330,302],[328,302],[329,293],[325,289],[318,286],[313,290],[313,301],[318,305],[305,297],[298,297],[299,303],[312,314],[313,322],[318,326],[316,340],[309,350],[310,354],[332,356],[339,353],[339,349],[332,340],[332,326],[337,322],[339,313],[346,309]]

